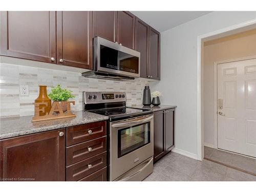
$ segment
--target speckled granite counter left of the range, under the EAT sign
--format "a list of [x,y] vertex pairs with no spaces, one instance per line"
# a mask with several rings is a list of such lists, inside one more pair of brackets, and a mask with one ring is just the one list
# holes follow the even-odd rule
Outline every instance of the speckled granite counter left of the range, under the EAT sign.
[[76,114],[75,118],[55,119],[33,123],[31,122],[33,116],[0,119],[0,139],[109,119],[107,116],[90,112],[76,111],[73,113]]

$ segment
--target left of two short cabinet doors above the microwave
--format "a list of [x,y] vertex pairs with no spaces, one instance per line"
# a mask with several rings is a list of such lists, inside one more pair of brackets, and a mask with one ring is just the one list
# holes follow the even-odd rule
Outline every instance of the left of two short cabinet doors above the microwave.
[[116,11],[93,11],[93,37],[115,41]]

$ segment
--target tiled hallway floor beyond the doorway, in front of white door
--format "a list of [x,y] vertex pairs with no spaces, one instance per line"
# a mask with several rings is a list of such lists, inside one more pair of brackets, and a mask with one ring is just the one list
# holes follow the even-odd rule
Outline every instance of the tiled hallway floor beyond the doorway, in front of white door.
[[204,157],[256,174],[256,159],[204,147]]

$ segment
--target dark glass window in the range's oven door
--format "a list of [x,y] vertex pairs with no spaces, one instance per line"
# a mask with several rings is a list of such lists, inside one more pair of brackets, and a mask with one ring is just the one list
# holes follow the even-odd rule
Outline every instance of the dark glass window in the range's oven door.
[[150,123],[118,130],[118,158],[150,143]]

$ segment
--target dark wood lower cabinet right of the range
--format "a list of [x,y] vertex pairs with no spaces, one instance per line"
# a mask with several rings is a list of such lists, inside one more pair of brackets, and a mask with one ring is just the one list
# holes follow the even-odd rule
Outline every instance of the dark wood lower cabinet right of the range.
[[154,163],[175,146],[175,108],[154,112]]

